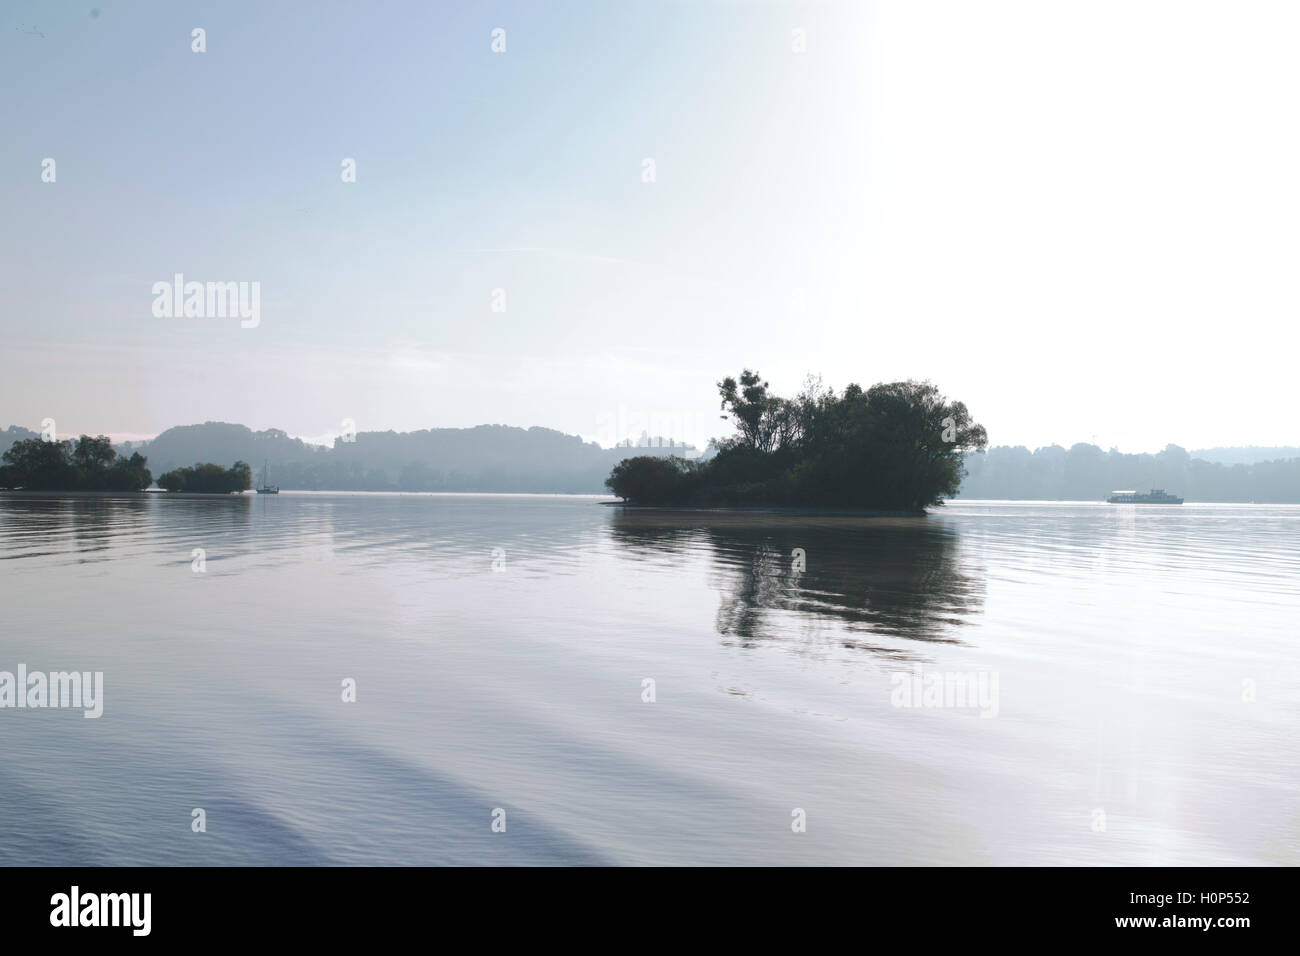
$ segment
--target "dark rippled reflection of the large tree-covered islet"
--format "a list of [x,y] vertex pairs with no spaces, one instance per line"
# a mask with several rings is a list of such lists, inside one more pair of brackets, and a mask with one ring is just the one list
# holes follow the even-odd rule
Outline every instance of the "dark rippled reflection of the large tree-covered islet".
[[935,518],[618,509],[610,531],[647,558],[705,554],[729,644],[816,639],[913,658],[898,639],[961,643],[983,610],[983,570]]

